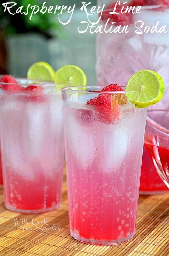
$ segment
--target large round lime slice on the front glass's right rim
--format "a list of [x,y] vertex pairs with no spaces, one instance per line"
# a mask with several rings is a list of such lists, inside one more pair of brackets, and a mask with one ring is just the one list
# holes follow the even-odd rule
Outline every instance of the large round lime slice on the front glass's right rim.
[[164,82],[156,72],[140,70],[130,77],[125,90],[133,91],[126,95],[136,108],[146,108],[160,101],[164,93]]

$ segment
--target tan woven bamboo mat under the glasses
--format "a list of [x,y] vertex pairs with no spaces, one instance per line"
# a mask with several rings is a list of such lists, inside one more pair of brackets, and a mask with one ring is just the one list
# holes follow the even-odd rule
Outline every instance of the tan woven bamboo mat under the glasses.
[[[44,230],[40,229],[41,226]],[[3,203],[3,189],[0,189],[0,255],[167,256],[169,193],[140,195],[136,234],[131,241],[114,246],[95,246],[78,242],[70,236],[65,172],[62,205],[48,213],[27,215],[8,211]]]

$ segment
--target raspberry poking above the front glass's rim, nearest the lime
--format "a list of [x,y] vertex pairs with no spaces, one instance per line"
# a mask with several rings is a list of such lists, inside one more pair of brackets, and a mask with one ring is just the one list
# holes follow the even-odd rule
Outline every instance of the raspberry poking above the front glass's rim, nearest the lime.
[[[109,84],[108,86],[104,87],[102,91],[124,91],[119,85],[117,84]],[[123,93],[118,93],[114,95],[119,105],[127,104],[127,96]]]

